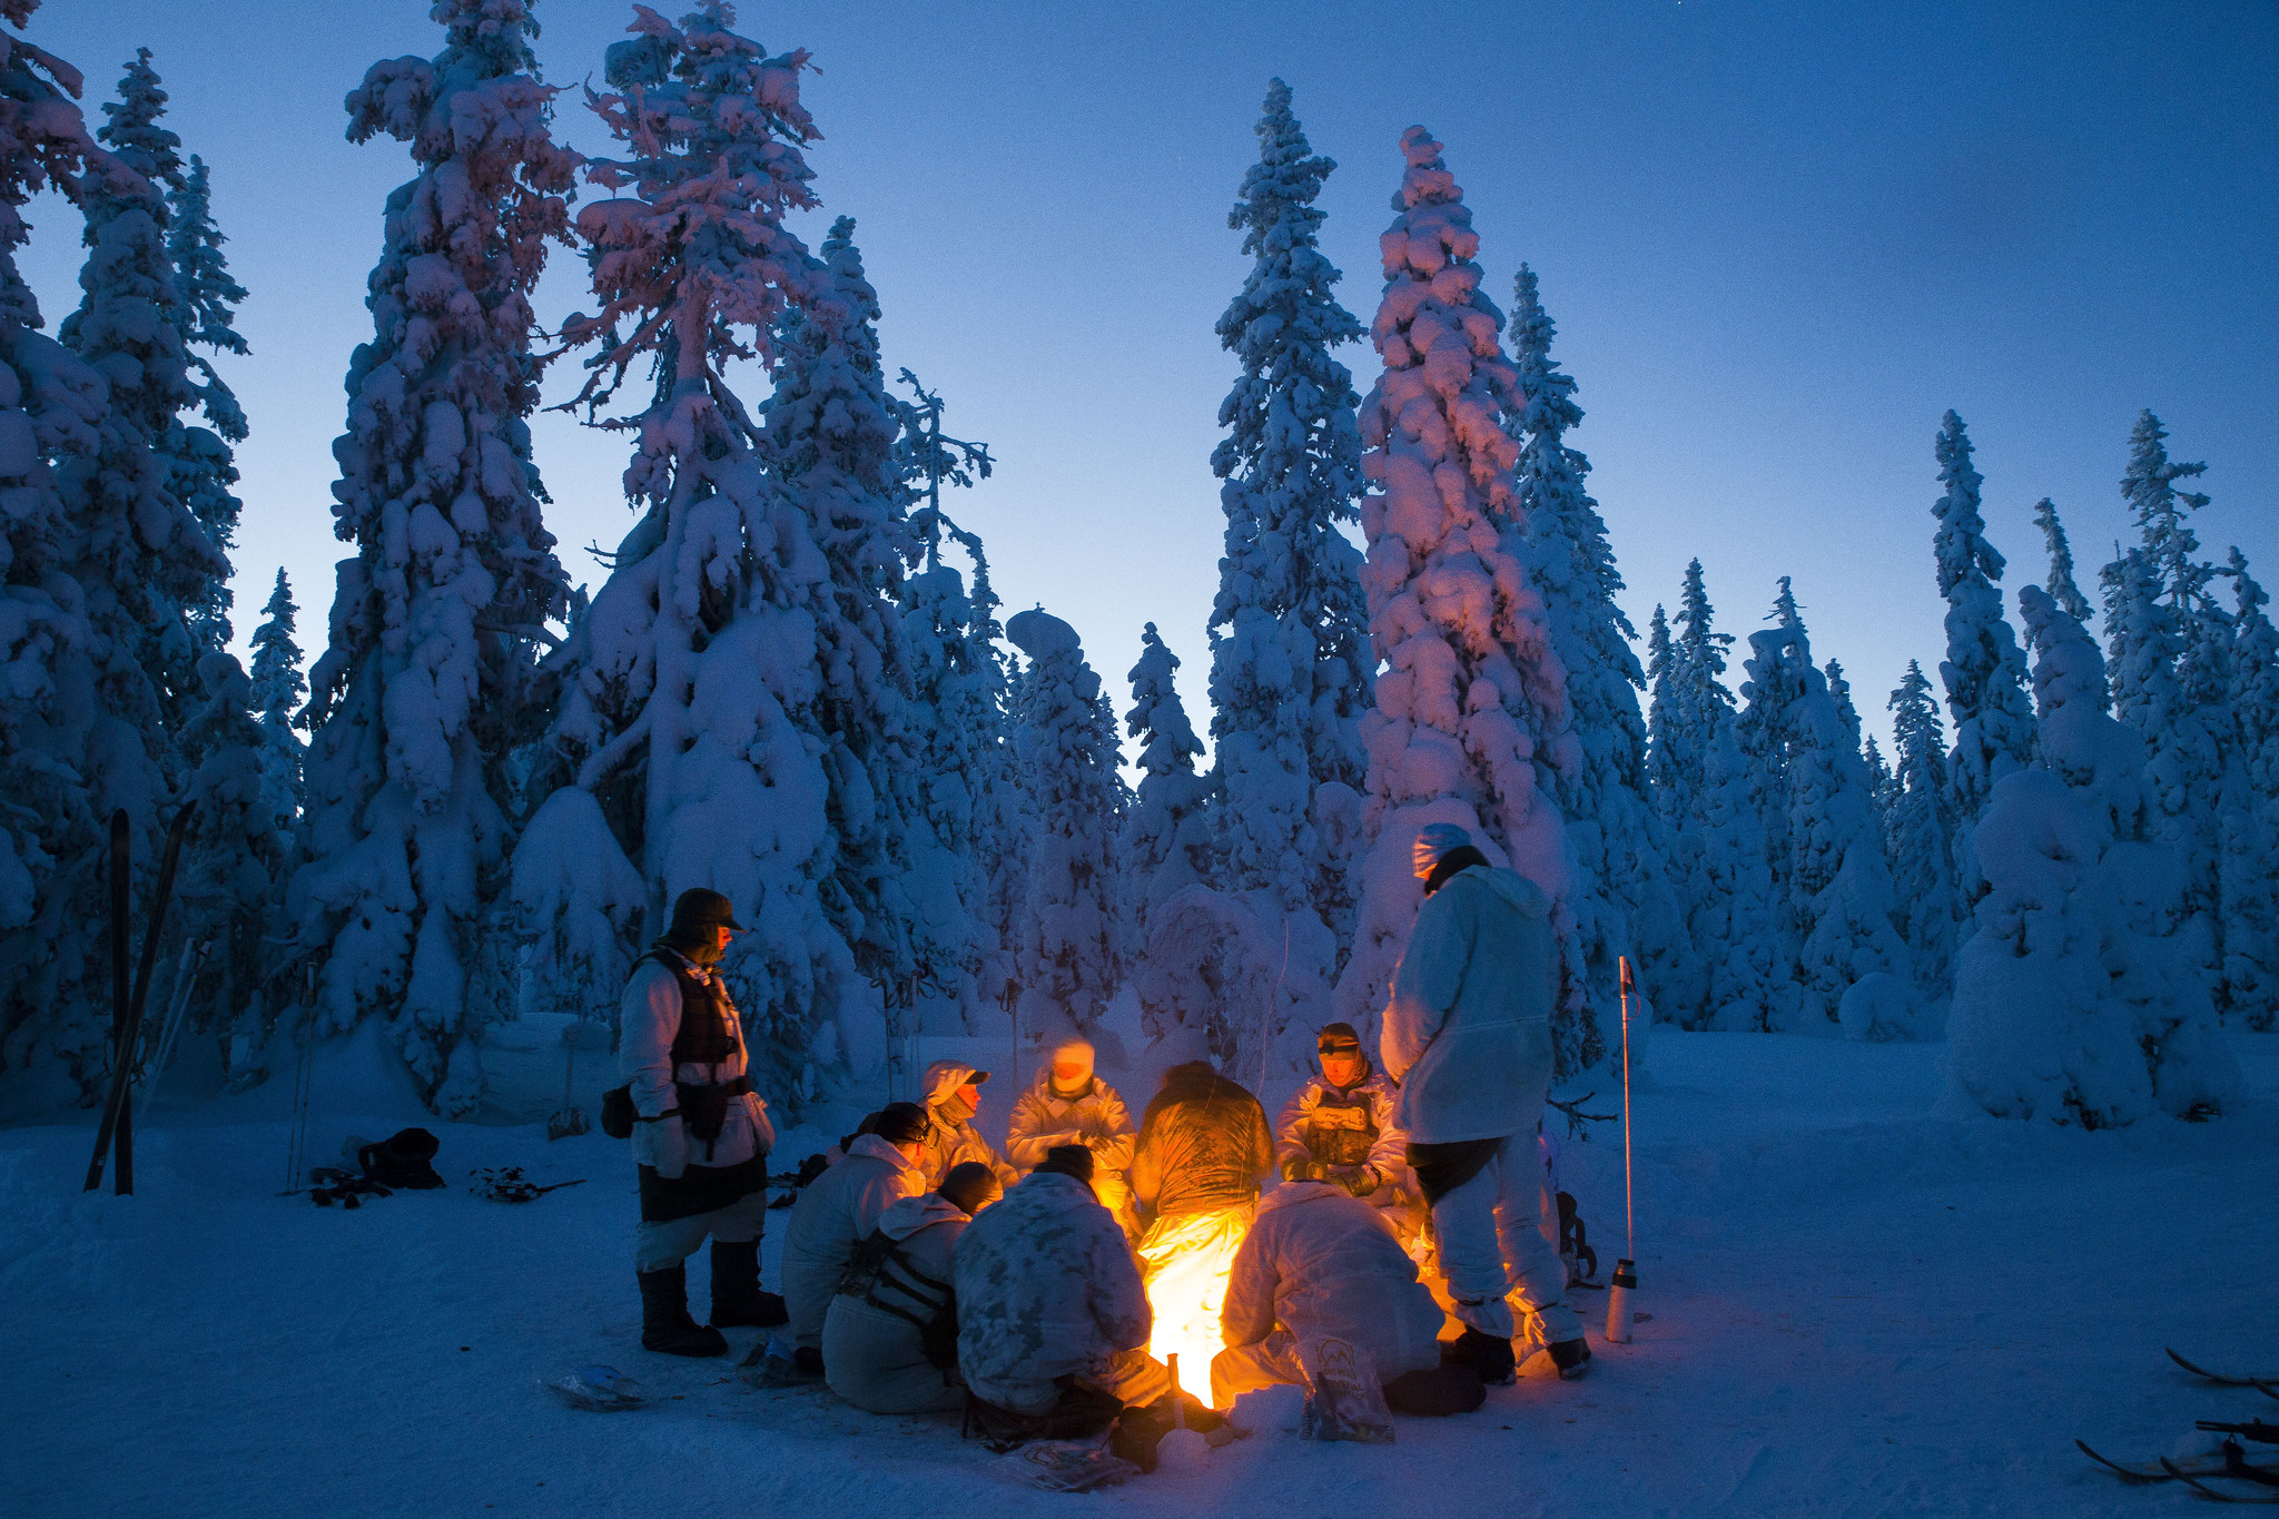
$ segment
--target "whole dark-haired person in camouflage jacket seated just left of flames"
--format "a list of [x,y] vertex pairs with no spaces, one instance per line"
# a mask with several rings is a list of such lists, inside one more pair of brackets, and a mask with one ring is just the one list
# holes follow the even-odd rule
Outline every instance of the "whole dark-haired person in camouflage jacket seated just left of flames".
[[[1149,1360],[1155,1314],[1140,1262],[1092,1196],[1092,1150],[1053,1146],[957,1241],[957,1371],[973,1394],[969,1430],[1064,1439],[1169,1428],[1171,1373]],[[1158,1407],[1165,1410],[1158,1414]],[[1146,1410],[1142,1419],[1124,1412]],[[1130,1458],[1151,1467],[1153,1439]]]

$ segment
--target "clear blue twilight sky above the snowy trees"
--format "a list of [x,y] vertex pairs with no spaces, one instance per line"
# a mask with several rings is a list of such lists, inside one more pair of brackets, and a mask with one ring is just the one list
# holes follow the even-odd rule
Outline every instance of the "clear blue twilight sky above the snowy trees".
[[[672,5],[659,5],[668,14]],[[2140,408],[2208,460],[2213,556],[2279,583],[2279,5],[2142,0],[1575,0],[1488,5],[743,5],[809,48],[809,150],[852,214],[909,364],[1000,467],[957,501],[1007,608],[1042,601],[1112,688],[1160,624],[1203,726],[1222,515],[1210,449],[1233,367],[1212,321],[1244,260],[1226,228],[1272,75],[1338,159],[1324,246],[1367,323],[1399,132],[1447,143],[1509,305],[1520,260],[1579,380],[1598,496],[1641,633],[1700,556],[1748,633],[1796,576],[1814,654],[1871,731],[1908,658],[1944,647],[1930,442],[1962,412],[2010,585],[2040,581],[2049,494],[2083,581],[2126,531]],[[340,376],[403,148],[342,139],[383,57],[435,52],[426,0],[48,0],[30,36],[109,98],[150,46],[171,125],[214,173],[253,358],[226,367],[242,449],[239,640],[278,565],[324,642]],[[622,0],[540,0],[549,80],[599,73]],[[565,137],[599,148],[577,91]],[[75,301],[75,214],[32,207],[27,278]],[[540,292],[579,305],[579,264]],[[1361,389],[1367,346],[1342,351]],[[567,394],[561,367],[554,389]],[[624,446],[538,421],[572,576],[629,526]],[[2015,601],[2012,601],[2015,615]],[[1641,644],[1643,651],[1643,644]],[[1739,674],[1739,672],[1737,672]],[[1119,704],[1121,706],[1121,704]]]

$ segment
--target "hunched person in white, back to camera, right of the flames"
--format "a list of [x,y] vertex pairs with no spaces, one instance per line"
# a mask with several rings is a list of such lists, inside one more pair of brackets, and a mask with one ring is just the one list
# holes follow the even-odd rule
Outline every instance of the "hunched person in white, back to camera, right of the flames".
[[1226,1278],[1226,1348],[1210,1362],[1210,1403],[1304,1385],[1304,1346],[1342,1339],[1370,1353],[1395,1412],[1470,1412],[1488,1394],[1472,1366],[1443,1364],[1443,1323],[1381,1209],[1329,1182],[1283,1182],[1260,1198]]

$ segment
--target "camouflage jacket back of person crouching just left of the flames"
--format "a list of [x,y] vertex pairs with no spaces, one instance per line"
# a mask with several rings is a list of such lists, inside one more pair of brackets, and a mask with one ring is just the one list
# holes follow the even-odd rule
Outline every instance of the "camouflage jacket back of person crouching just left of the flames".
[[1032,1414],[1055,1378],[1092,1378],[1146,1346],[1140,1266],[1092,1189],[1037,1171],[957,1241],[957,1369],[973,1396]]

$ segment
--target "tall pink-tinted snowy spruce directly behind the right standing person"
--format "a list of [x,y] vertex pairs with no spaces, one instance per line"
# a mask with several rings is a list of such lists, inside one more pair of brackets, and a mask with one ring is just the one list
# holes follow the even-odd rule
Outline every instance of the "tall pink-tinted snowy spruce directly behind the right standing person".
[[1527,578],[1502,414],[1522,405],[1479,292],[1479,235],[1440,143],[1402,134],[1399,212],[1379,239],[1386,294],[1370,337],[1383,373],[1361,408],[1361,572],[1370,640],[1383,660],[1363,717],[1370,754],[1361,934],[1338,979],[1338,1016],[1374,1038],[1392,968],[1415,922],[1415,834],[1456,822],[1552,897],[1561,986],[1559,1070],[1604,1052],[1568,906],[1573,849],[1554,788],[1582,765],[1566,670],[1543,597]]

